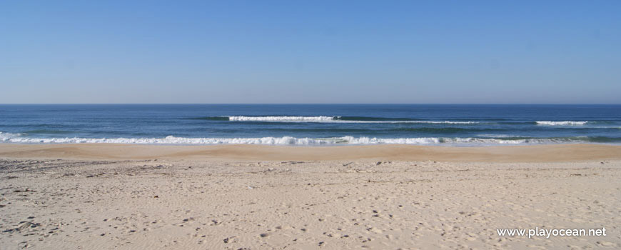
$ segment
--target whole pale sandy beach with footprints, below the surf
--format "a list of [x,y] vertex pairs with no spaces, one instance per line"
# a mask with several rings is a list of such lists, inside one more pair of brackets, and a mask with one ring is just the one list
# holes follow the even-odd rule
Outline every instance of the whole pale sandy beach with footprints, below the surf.
[[[619,249],[621,146],[0,144],[0,249]],[[498,236],[496,229],[607,236]]]

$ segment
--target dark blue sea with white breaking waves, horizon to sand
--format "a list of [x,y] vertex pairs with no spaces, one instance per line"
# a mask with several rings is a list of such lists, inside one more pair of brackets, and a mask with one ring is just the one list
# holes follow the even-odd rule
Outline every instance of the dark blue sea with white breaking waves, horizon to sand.
[[621,143],[621,105],[0,105],[3,143]]

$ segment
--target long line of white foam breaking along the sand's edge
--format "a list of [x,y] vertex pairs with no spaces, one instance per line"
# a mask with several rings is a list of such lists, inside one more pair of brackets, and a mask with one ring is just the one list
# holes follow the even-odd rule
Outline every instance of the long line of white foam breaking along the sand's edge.
[[370,138],[370,137],[333,137],[333,138],[295,138],[261,137],[261,138],[187,138],[166,136],[164,138],[31,138],[20,134],[0,132],[0,142],[25,144],[267,144],[267,145],[360,145],[360,144],[551,144],[582,141],[577,139],[491,139],[491,138]]

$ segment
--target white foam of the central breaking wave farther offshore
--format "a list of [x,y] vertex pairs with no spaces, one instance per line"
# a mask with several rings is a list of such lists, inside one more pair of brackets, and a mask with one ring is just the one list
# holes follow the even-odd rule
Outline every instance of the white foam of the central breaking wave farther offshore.
[[478,121],[355,121],[340,116],[228,116],[228,121],[335,122],[349,124],[478,124]]

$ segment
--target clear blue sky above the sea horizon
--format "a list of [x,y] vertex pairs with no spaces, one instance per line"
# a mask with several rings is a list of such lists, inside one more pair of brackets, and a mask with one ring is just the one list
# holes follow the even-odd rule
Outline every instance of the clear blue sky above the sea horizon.
[[620,104],[621,1],[0,1],[0,103]]

